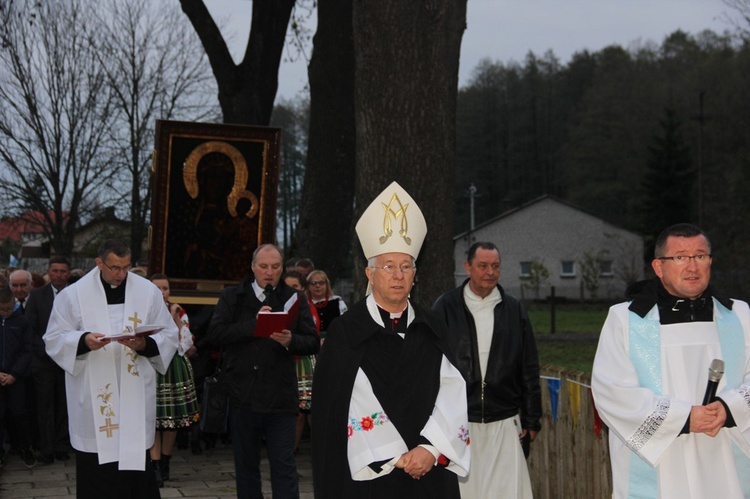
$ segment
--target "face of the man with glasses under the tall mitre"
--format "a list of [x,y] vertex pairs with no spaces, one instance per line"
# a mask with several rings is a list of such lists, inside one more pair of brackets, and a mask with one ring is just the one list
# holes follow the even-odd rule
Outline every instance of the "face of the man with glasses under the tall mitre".
[[403,312],[417,273],[412,257],[406,253],[379,255],[375,259],[375,268],[367,267],[365,273],[372,284],[372,294],[378,305],[388,312]]

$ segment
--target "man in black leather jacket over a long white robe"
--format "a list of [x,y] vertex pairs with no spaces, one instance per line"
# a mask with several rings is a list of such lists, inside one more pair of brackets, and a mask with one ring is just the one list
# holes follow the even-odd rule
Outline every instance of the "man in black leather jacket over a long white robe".
[[521,444],[541,429],[534,334],[523,305],[498,284],[497,246],[473,244],[464,268],[469,278],[433,306],[466,380],[474,465],[459,479],[461,497],[531,497]]

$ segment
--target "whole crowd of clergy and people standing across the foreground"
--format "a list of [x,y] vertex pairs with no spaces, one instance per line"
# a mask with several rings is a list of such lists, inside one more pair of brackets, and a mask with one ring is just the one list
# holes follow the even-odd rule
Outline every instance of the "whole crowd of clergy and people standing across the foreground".
[[[120,241],[73,278],[63,257],[42,285],[25,270],[0,276],[0,463],[6,443],[28,467],[72,448],[78,497],[159,497],[178,432],[201,451],[193,363],[213,350],[239,498],[263,497],[263,446],[273,496],[299,497],[306,429],[319,498],[532,497],[539,361],[523,304],[499,283],[499,247],[474,243],[466,280],[426,309],[410,298],[427,234],[411,196],[391,184],[356,231],[364,300],[348,307],[311,260],[285,262],[262,244],[201,338],[170,301],[169,278],[139,275]],[[610,428],[614,497],[750,493],[750,311],[710,286],[710,265],[702,230],[666,229],[656,277],[631,286],[604,324],[592,390]],[[266,313],[285,322],[265,331]],[[699,403],[712,358],[726,376]]]

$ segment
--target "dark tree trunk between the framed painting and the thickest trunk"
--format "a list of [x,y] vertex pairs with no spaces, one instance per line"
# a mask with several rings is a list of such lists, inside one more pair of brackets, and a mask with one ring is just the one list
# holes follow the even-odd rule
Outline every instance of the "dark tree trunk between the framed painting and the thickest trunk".
[[308,68],[310,132],[295,254],[335,281],[346,264],[354,202],[352,0],[320,0]]

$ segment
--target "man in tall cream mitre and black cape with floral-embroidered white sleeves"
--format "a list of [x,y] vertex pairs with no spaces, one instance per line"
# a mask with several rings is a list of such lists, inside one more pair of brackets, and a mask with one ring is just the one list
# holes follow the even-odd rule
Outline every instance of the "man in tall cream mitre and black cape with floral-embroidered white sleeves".
[[424,216],[394,182],[356,230],[368,296],[331,324],[316,366],[315,497],[457,499],[469,470],[466,385],[441,324],[409,300]]

